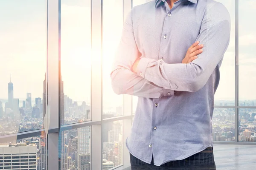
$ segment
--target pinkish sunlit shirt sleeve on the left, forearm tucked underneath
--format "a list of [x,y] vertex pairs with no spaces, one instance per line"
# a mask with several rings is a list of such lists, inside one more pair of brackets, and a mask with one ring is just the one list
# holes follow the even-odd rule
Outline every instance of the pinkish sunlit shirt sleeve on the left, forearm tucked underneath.
[[147,98],[174,96],[173,90],[159,87],[131,71],[133,63],[140,57],[141,54],[134,39],[131,10],[125,19],[121,41],[112,65],[111,85],[113,91],[116,94],[130,94]]

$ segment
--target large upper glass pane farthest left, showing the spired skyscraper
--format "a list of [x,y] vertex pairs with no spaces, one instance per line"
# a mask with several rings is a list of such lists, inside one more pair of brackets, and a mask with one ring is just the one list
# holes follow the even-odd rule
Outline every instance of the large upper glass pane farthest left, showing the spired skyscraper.
[[1,0],[0,20],[0,135],[40,129],[46,72],[46,1]]

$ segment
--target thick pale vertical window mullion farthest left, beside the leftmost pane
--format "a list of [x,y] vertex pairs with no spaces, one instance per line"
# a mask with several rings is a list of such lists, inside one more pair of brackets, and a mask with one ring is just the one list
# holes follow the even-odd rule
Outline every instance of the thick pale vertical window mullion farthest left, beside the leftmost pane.
[[[59,83],[60,83],[60,1],[47,0],[47,85],[46,85],[46,114],[44,128],[47,136],[47,170],[58,170],[58,137],[56,133],[49,133],[49,129],[59,129]],[[48,135],[47,135],[48,134]]]

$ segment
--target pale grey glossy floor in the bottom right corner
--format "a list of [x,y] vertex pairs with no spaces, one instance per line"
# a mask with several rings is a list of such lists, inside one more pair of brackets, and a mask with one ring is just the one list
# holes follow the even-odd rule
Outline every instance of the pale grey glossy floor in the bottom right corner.
[[214,144],[216,170],[256,170],[256,145]]

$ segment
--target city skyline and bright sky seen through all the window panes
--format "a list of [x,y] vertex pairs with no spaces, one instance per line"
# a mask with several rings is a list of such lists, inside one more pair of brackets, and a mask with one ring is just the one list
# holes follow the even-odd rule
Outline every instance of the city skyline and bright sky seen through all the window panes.
[[[217,0],[229,10],[232,19],[230,46],[221,65],[221,82],[215,94],[212,116],[213,141],[235,141],[235,13],[233,0]],[[25,6],[24,3],[30,4]],[[134,0],[133,6],[146,0]],[[17,6],[14,6],[16,4]],[[255,11],[252,1],[239,6],[239,141],[256,142],[255,24],[248,25]],[[91,60],[90,0],[61,1],[61,125],[90,121]],[[240,4],[239,4],[240,5]],[[256,4],[255,4],[256,5]],[[46,2],[45,0],[9,0],[0,2],[0,136],[44,128],[46,115]],[[24,6],[19,13],[18,6]],[[6,11],[5,9],[10,9]],[[37,9],[37,10],[35,10]],[[245,10],[246,9],[246,10]],[[30,16],[30,13],[34,15]],[[122,0],[103,0],[103,114],[102,119],[123,114],[122,95],[112,91],[110,71],[116,46],[122,33]],[[16,19],[15,19],[16,18]],[[76,18],[76,20],[74,20]],[[9,21],[12,21],[9,22]],[[35,24],[33,24],[35,23]],[[113,26],[114,25],[114,26]],[[19,30],[14,29],[18,27]],[[86,30],[86,31],[84,31]],[[2,36],[2,34],[5,34]],[[37,37],[37,38],[35,38]],[[254,37],[254,39],[252,38]],[[137,97],[133,97],[133,113]],[[102,124],[102,169],[123,163],[123,121]],[[195,134],[197,135],[197,134]],[[46,133],[26,139],[0,143],[1,167],[44,170],[47,159]],[[61,130],[59,157],[61,170],[90,170],[91,127]],[[8,150],[12,148],[12,150]],[[25,149],[26,148],[26,149]],[[12,154],[17,151],[17,154]],[[3,156],[5,155],[5,156]]]

